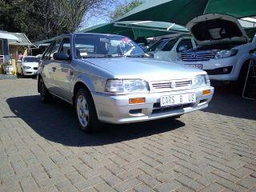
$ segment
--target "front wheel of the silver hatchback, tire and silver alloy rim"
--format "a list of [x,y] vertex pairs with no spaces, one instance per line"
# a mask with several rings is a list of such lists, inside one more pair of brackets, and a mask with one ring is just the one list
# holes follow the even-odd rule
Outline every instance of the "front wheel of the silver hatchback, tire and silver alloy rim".
[[82,131],[91,133],[100,130],[102,124],[98,121],[94,101],[88,90],[85,88],[78,90],[74,107]]

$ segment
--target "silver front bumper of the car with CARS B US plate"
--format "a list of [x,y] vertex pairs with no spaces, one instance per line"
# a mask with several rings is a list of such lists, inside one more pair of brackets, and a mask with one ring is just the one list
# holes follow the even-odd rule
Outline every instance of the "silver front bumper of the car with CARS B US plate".
[[[210,90],[210,94],[202,95],[202,90]],[[196,94],[196,102],[182,106],[160,106],[160,97],[171,94]],[[186,114],[194,110],[202,110],[208,106],[214,94],[214,87],[205,86],[197,89],[170,91],[150,94],[126,94],[110,95],[92,93],[97,110],[98,119],[101,122],[115,124],[129,122],[143,122],[158,118],[167,118]],[[142,104],[129,105],[129,98],[146,98]]]

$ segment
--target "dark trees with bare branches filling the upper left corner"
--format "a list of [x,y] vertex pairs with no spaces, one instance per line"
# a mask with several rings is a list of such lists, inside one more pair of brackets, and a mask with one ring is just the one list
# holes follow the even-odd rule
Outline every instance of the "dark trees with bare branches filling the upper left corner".
[[0,0],[0,30],[22,32],[32,42],[74,32],[86,13],[114,0]]

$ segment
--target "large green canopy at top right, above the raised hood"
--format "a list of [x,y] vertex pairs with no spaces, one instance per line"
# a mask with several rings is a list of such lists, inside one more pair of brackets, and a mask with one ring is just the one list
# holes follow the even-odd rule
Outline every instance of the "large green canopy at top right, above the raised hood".
[[126,13],[122,21],[161,21],[186,26],[202,14],[229,14],[236,18],[256,15],[255,0],[150,0]]

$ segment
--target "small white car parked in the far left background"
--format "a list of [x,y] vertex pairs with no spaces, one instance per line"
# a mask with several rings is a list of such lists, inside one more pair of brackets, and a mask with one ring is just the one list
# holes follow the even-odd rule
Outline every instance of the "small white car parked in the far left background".
[[39,58],[35,56],[26,56],[17,62],[17,74],[24,76],[31,76],[38,74]]

